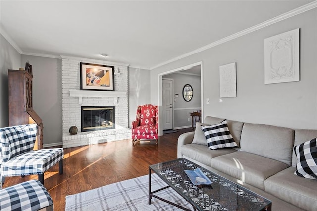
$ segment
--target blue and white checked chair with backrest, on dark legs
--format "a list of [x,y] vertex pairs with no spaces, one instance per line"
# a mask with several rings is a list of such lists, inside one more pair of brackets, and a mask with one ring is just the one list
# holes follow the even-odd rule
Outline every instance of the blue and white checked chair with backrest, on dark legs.
[[[6,176],[38,174],[44,184],[44,172],[59,162],[63,173],[63,148],[33,150],[37,136],[36,124],[0,128],[0,181]],[[2,177],[2,178],[1,178]]]

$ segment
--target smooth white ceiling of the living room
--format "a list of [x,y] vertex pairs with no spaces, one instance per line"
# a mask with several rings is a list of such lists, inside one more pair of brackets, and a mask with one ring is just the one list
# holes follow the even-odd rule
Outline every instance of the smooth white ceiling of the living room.
[[1,34],[21,54],[152,69],[309,2],[1,0]]

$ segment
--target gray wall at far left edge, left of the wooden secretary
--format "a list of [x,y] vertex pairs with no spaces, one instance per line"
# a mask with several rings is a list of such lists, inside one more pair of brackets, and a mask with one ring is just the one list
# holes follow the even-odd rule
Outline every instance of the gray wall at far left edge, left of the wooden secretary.
[[0,35],[0,49],[0,127],[7,127],[9,125],[8,69],[21,67],[21,55],[2,35]]

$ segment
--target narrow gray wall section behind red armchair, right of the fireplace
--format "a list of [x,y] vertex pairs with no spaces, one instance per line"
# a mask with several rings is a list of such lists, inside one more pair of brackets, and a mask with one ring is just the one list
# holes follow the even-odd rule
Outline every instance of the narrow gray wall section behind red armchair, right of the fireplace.
[[128,69],[129,127],[135,120],[137,106],[150,103],[150,70]]

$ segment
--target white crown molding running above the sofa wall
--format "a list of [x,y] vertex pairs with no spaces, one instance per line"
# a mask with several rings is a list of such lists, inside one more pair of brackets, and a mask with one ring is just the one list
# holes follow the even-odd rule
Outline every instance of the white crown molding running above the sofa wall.
[[278,16],[276,16],[276,17],[274,17],[274,18],[271,18],[271,19],[269,19],[269,20],[266,20],[266,21],[264,21],[264,22],[262,22],[262,23],[260,23],[260,24],[257,24],[257,25],[255,25],[255,26],[252,26],[252,27],[250,27],[250,28],[247,28],[247,29],[242,30],[242,31],[240,31],[240,32],[237,32],[237,33],[235,33],[235,34],[229,35],[229,36],[227,36],[227,37],[225,37],[225,38],[222,38],[222,39],[220,39],[220,40],[217,40],[217,41],[215,41],[215,42],[213,42],[213,43],[211,43],[211,44],[209,44],[209,45],[203,46],[203,47],[201,47],[201,48],[199,48],[199,49],[196,49],[196,50],[194,50],[194,51],[185,53],[185,54],[183,54],[183,55],[180,55],[180,56],[177,56],[177,57],[172,58],[172,59],[170,59],[170,60],[167,60],[167,61],[165,61],[165,62],[162,62],[162,63],[160,63],[160,64],[158,64],[158,65],[156,65],[156,66],[154,66],[154,67],[151,67],[150,70],[153,70],[153,69],[155,69],[155,68],[158,68],[158,67],[161,67],[161,66],[163,66],[163,65],[169,64],[169,63],[171,63],[171,62],[177,61],[177,60],[179,60],[179,59],[185,58],[185,57],[187,57],[187,56],[194,55],[194,54],[196,54],[196,53],[200,53],[200,52],[205,51],[205,50],[207,50],[207,49],[210,49],[210,48],[212,48],[212,47],[215,47],[215,46],[218,46],[218,45],[220,45],[220,44],[226,43],[226,42],[228,42],[228,41],[230,41],[230,40],[233,40],[233,39],[236,39],[236,38],[238,38],[238,37],[247,35],[247,34],[249,34],[249,33],[251,33],[251,32],[257,31],[257,30],[262,29],[262,28],[264,28],[264,27],[266,27],[266,26],[272,25],[272,24],[274,24],[274,23],[280,22],[280,21],[285,20],[285,19],[287,19],[287,18],[290,18],[290,17],[293,17],[293,16],[295,16],[295,15],[301,14],[301,13],[303,13],[303,12],[309,11],[309,10],[314,9],[314,8],[316,8],[316,7],[317,7],[317,1],[315,0],[315,1],[311,2],[311,3],[305,4],[305,5],[303,5],[303,6],[300,6],[300,7],[296,8],[296,9],[293,9],[293,10],[291,10],[291,11],[288,11],[288,12],[286,12],[286,13],[284,13],[284,14],[281,14],[281,15],[278,15]]

